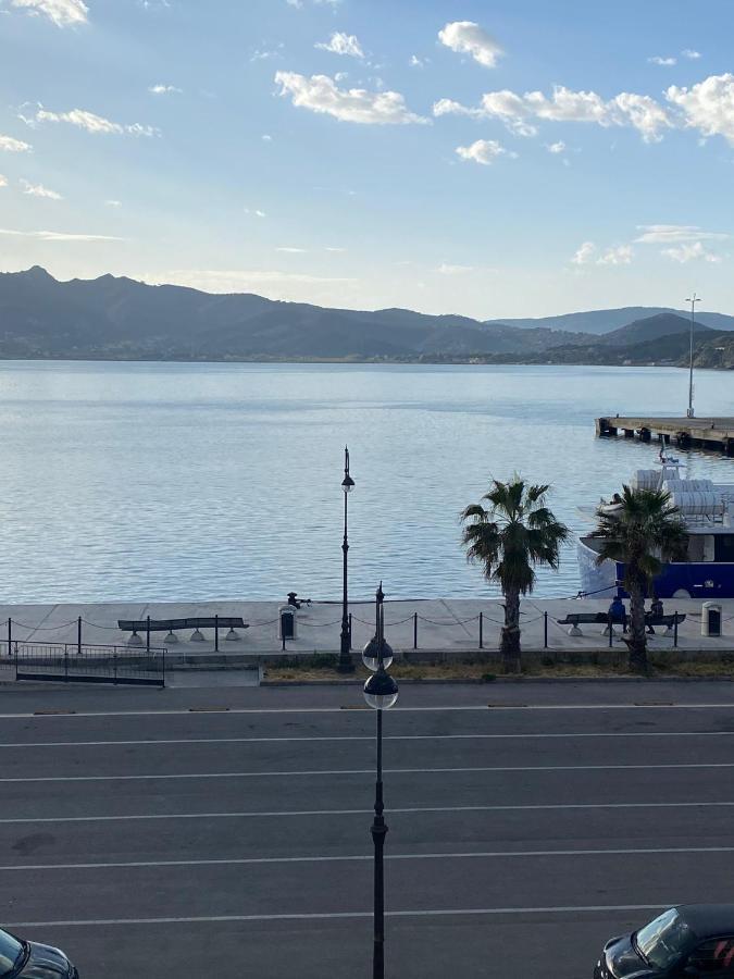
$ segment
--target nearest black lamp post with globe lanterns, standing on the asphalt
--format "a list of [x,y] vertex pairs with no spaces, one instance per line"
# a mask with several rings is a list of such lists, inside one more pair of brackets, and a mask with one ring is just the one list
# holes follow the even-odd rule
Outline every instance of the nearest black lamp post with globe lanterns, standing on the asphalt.
[[374,863],[374,940],[372,953],[372,979],[385,976],[385,878],[383,850],[387,825],[383,816],[383,710],[388,710],[398,699],[398,684],[387,669],[393,662],[393,649],[385,642],[382,582],[375,603],[375,635],[362,650],[364,665],[374,672],[364,684],[364,699],[377,712],[377,778],[375,782],[375,815],[370,827],[375,850]]

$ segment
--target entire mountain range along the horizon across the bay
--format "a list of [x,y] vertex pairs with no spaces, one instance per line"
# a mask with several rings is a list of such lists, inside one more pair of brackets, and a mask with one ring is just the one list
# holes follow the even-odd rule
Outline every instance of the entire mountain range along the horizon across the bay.
[[[700,313],[697,351],[734,347],[734,317]],[[729,334],[729,331],[732,331]],[[660,308],[538,320],[408,309],[327,309],[102,275],[60,282],[38,265],[0,273],[0,358],[676,362],[689,320]],[[722,346],[712,367],[734,367]]]

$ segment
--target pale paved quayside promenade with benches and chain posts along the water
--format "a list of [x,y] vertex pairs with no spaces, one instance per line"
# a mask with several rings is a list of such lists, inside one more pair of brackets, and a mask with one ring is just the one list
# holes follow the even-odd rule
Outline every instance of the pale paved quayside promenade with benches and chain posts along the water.
[[[111,604],[78,605],[3,605],[0,606],[0,642],[7,636],[7,624],[12,619],[12,639],[30,643],[76,643],[78,619],[82,619],[82,639],[85,645],[124,646],[129,637],[117,629],[119,619],[144,620],[185,618],[197,616],[241,616],[249,629],[239,630],[235,642],[225,641],[226,629],[220,632],[221,653],[282,653],[278,639],[279,602],[190,602],[145,603],[121,602]],[[583,625],[582,636],[568,635],[568,627],[558,621],[575,612],[606,612],[607,600],[596,599],[540,599],[522,602],[522,643],[526,650],[594,650],[609,645],[604,625]],[[723,606],[723,634],[719,637],[701,636],[701,603],[694,600],[668,600],[665,614],[679,611],[686,616],[679,629],[677,646],[681,650],[734,650],[734,599],[725,599]],[[362,648],[374,634],[374,604],[350,604],[352,616],[352,646]],[[546,645],[547,614],[547,645]],[[297,614],[297,637],[287,642],[289,654],[337,652],[339,648],[341,606],[332,603],[313,603]],[[480,620],[480,616],[482,620]],[[436,598],[426,600],[388,602],[385,606],[385,635],[397,653],[410,653],[416,647],[423,652],[451,654],[482,647],[497,649],[502,625],[503,610],[500,600]],[[619,627],[618,627],[619,631]],[[672,635],[657,629],[651,636],[651,648],[671,648]],[[214,649],[213,630],[203,630],[203,642],[191,642],[191,630],[178,633],[179,642],[172,652],[204,654]],[[144,637],[145,639],[145,637]],[[163,645],[165,633],[151,635],[151,644]],[[621,646],[621,639],[614,639]]]

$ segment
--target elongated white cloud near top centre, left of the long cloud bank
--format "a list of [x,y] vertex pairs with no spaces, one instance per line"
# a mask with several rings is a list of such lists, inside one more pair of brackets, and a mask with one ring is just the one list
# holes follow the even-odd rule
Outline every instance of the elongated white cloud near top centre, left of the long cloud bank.
[[328,75],[299,75],[276,72],[275,82],[281,96],[289,95],[294,106],[324,113],[341,122],[364,125],[406,125],[427,123],[428,120],[410,112],[397,91],[366,91],[363,88],[338,88]]

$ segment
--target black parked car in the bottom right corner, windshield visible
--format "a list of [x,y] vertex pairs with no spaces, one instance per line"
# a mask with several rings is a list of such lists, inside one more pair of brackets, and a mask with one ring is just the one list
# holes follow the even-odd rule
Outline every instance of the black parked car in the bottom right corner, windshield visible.
[[671,907],[649,925],[610,939],[594,979],[734,979],[734,904]]

